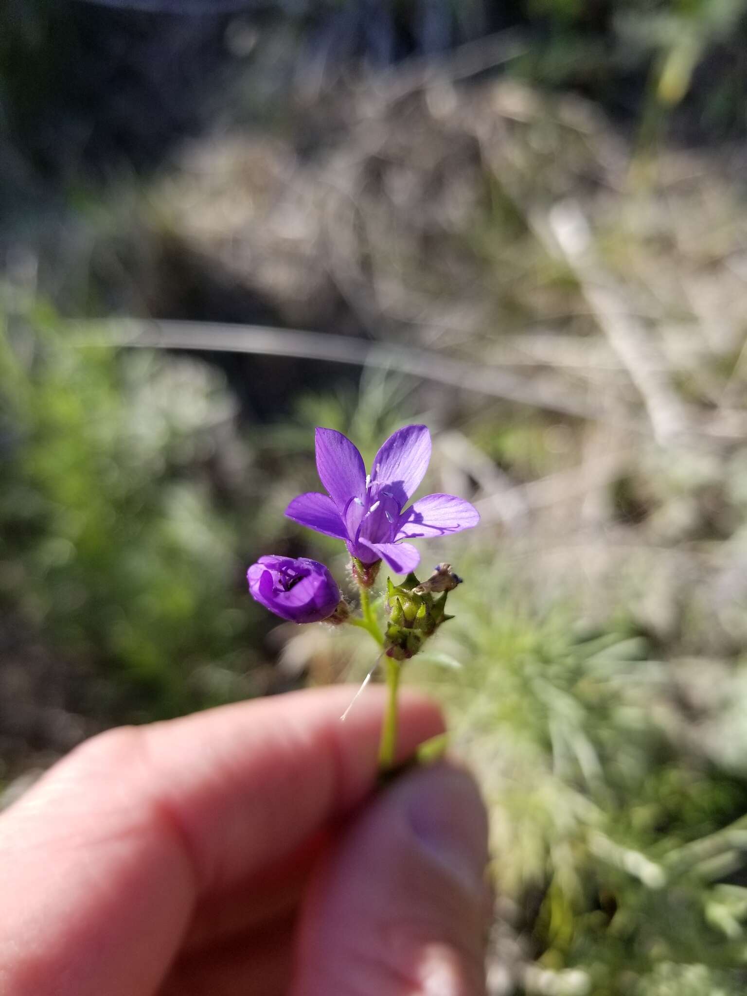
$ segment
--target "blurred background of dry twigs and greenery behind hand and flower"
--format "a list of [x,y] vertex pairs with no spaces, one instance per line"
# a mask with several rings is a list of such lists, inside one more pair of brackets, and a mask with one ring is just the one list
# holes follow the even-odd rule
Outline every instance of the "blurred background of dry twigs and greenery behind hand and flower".
[[492,810],[491,996],[744,991],[746,52],[746,0],[5,0],[4,802],[362,678],[245,572],[342,580],[314,426],[425,421],[482,525],[406,676]]

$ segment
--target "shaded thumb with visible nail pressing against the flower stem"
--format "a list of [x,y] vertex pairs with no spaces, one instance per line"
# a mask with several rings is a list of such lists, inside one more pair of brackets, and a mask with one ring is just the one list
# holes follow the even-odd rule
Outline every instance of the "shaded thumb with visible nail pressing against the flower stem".
[[482,996],[487,818],[438,765],[377,796],[317,872],[292,996]]

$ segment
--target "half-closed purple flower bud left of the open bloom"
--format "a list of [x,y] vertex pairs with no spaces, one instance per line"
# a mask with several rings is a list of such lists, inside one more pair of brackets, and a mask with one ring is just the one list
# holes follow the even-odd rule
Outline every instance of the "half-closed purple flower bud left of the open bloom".
[[290,622],[322,622],[340,603],[329,570],[306,557],[260,557],[246,577],[254,601]]

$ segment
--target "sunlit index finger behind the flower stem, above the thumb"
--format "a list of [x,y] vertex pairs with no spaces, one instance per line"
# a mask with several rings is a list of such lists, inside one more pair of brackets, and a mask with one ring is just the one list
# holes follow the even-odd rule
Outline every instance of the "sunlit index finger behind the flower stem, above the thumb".
[[[371,791],[383,696],[341,723],[349,698],[292,693],[117,730],[53,769],[0,819],[0,992],[154,991],[198,897]],[[435,706],[402,697],[402,756],[441,729]]]

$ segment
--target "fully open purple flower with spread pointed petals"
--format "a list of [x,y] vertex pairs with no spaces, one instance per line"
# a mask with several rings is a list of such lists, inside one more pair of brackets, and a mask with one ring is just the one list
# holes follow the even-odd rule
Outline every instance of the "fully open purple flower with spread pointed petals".
[[402,540],[445,536],[471,529],[477,509],[454,495],[426,495],[404,506],[430,460],[426,425],[407,425],[390,435],[373,458],[370,475],[363,457],[342,432],[317,429],[317,469],[329,495],[311,491],[294,498],[289,519],[318,533],[345,540],[363,564],[385,560],[392,571],[413,571],[420,555]]

